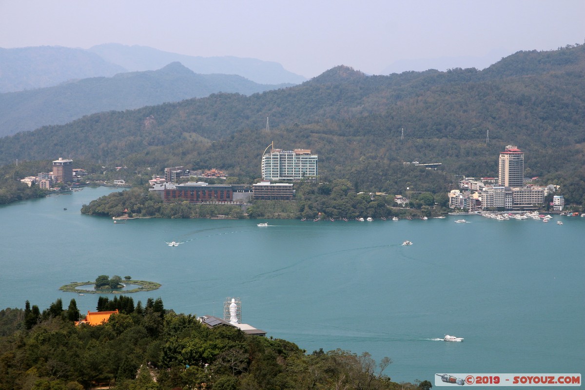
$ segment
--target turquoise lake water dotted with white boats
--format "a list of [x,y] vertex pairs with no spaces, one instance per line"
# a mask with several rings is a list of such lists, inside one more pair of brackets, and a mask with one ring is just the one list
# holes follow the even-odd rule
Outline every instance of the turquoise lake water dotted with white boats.
[[[160,296],[176,312],[222,316],[226,297],[240,297],[243,322],[268,336],[309,353],[388,356],[394,363],[384,373],[395,381],[585,371],[585,218],[115,225],[81,215],[82,204],[111,191],[0,207],[1,308],[23,308],[29,299],[43,310],[75,298],[81,312],[95,310],[97,294],[58,288],[130,275],[162,284],[130,295],[135,303]],[[445,334],[465,340],[437,340]]]

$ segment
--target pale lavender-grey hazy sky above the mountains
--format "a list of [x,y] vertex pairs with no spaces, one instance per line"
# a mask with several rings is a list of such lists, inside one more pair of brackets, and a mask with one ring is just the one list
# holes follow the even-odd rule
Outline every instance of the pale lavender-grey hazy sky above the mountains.
[[584,41],[585,0],[0,0],[0,47],[138,44],[276,61],[307,78]]

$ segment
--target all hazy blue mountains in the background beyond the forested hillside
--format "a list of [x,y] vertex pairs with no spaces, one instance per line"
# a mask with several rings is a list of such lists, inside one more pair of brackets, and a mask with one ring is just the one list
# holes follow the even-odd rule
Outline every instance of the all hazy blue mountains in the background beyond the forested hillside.
[[[479,58],[400,61],[387,73],[486,66]],[[238,57],[194,57],[110,43],[0,49],[0,136],[63,125],[92,113],[135,109],[216,92],[250,95],[300,84],[305,78],[277,63]],[[4,92],[4,93],[1,93]],[[33,115],[31,115],[33,113]]]

